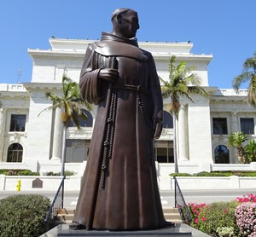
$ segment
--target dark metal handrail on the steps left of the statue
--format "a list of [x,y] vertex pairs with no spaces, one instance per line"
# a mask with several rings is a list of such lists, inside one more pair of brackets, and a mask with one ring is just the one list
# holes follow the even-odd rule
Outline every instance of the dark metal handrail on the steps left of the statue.
[[[63,198],[64,198],[64,180],[65,180],[66,176],[62,177],[60,186],[55,194],[55,197],[49,207],[49,211],[47,212],[46,217],[44,218],[44,223],[47,224],[47,228],[49,228],[49,217],[52,215],[52,218],[55,222],[55,218],[58,216],[58,211],[60,210],[60,208],[63,208]],[[59,201],[59,194],[61,194],[61,201]]]

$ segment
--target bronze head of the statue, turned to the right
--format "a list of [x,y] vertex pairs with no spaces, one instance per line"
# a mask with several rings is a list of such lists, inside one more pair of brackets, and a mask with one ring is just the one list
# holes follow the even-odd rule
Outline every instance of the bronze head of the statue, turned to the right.
[[137,12],[132,9],[116,9],[111,17],[113,34],[124,38],[134,38],[139,29]]

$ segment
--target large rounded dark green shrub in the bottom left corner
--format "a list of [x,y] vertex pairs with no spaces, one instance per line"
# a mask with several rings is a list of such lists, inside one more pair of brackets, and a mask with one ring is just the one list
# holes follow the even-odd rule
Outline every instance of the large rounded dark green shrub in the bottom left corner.
[[1,237],[38,237],[46,232],[50,201],[42,195],[20,194],[0,200]]

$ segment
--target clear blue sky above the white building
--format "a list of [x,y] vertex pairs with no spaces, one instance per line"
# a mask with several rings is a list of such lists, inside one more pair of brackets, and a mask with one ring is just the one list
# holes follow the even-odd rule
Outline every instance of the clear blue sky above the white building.
[[190,40],[193,54],[212,54],[210,86],[231,88],[256,50],[255,0],[8,0],[0,7],[0,83],[31,81],[28,48],[49,49],[52,36],[100,38],[123,7],[139,14],[138,41]]

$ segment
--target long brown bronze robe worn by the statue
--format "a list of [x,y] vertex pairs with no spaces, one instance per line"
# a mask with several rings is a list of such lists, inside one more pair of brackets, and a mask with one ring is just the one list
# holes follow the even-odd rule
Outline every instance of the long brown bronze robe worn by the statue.
[[[101,68],[118,69],[117,82],[100,80]],[[87,229],[164,226],[152,145],[163,104],[152,55],[103,32],[86,50],[79,87],[98,110],[73,221]]]

